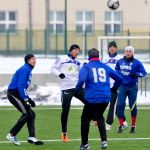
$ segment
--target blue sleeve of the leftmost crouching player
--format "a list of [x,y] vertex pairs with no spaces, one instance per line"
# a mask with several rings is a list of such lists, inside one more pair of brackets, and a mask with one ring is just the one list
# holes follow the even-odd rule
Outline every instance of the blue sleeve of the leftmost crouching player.
[[27,82],[29,79],[29,74],[30,72],[23,69],[18,76],[18,90],[21,98],[24,100],[27,100],[29,98],[27,94],[27,88],[28,88]]

